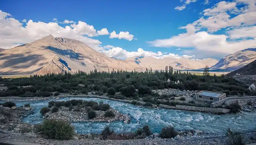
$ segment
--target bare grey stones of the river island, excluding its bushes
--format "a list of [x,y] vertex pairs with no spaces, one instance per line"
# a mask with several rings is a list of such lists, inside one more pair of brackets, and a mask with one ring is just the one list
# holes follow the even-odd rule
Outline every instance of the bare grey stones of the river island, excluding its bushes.
[[120,113],[118,110],[110,108],[112,112],[114,112],[114,117],[105,117],[105,111],[95,111],[96,117],[93,119],[89,119],[87,116],[87,112],[85,108],[81,108],[80,111],[68,110],[68,107],[62,106],[57,112],[47,112],[44,114],[44,119],[55,119],[55,120],[67,120],[70,122],[113,122],[113,121],[124,121],[124,123],[128,123],[131,121],[131,117],[129,115],[125,115]]

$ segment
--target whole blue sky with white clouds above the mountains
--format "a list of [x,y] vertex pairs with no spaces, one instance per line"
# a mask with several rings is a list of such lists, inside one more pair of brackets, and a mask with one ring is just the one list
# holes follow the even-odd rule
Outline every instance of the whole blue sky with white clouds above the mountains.
[[256,0],[1,0],[0,47],[48,35],[118,59],[206,59],[256,47]]

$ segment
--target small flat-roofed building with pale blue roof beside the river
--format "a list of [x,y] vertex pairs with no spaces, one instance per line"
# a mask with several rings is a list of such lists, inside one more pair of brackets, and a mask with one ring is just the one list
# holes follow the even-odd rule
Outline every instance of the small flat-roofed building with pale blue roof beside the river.
[[196,93],[196,100],[216,102],[226,98],[226,93],[212,92],[212,91],[200,91]]

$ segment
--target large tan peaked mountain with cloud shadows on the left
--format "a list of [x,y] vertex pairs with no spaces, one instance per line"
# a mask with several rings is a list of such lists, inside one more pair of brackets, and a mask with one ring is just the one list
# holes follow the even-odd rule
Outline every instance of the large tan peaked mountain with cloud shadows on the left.
[[45,74],[112,69],[142,71],[134,61],[118,60],[95,51],[81,41],[52,35],[0,52],[2,74]]

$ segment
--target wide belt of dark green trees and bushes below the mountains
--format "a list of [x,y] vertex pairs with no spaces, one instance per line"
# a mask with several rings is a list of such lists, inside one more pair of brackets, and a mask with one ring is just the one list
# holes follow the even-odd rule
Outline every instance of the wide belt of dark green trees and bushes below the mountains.
[[[171,82],[167,82],[170,79]],[[181,83],[175,83],[176,81]],[[126,97],[151,94],[153,89],[207,90],[224,92],[227,95],[256,95],[249,91],[248,86],[225,76],[210,76],[209,68],[204,68],[203,76],[191,74],[188,71],[173,70],[166,66],[165,70],[146,69],[145,72],[136,70],[90,71],[85,73],[78,70],[75,73],[63,72],[59,74],[33,75],[28,78],[7,79],[0,77],[0,82],[7,86],[0,91],[0,96],[20,97],[49,97],[52,92],[73,93],[75,91],[87,94],[91,91],[106,93],[108,88],[122,92]],[[136,89],[138,92],[136,93]],[[55,94],[54,94],[55,95]],[[57,96],[58,94],[56,94]],[[137,95],[137,96],[138,96]]]

